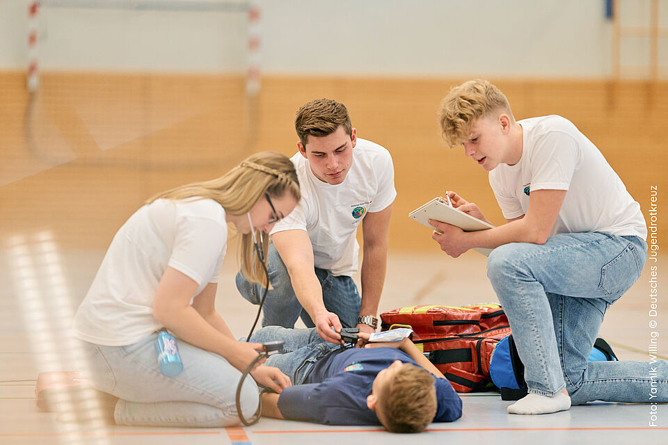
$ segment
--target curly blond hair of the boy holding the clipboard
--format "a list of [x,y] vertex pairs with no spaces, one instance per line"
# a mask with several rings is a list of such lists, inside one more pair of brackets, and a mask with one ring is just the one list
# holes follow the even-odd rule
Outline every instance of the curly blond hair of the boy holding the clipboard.
[[495,111],[507,113],[515,122],[508,99],[490,81],[474,79],[453,87],[438,110],[445,143],[449,147],[461,145],[470,138],[472,125]]

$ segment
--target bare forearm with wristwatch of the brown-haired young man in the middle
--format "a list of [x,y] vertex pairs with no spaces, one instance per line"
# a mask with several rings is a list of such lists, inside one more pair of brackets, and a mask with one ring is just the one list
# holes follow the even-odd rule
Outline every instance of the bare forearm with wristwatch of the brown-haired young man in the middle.
[[364,248],[362,261],[362,305],[360,316],[376,316],[379,301],[385,284],[385,273],[388,267],[388,245],[382,243]]

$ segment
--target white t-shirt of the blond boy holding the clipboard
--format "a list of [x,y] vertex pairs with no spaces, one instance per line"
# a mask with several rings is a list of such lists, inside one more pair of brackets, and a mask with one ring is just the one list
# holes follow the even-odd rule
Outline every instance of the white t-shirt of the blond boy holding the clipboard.
[[605,232],[647,237],[640,204],[573,123],[557,115],[518,122],[523,129],[522,158],[489,173],[505,218],[527,213],[530,192],[566,190],[552,235]]

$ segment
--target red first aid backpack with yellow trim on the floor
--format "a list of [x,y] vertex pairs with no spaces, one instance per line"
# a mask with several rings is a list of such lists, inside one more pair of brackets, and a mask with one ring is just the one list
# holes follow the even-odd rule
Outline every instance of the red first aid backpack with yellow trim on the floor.
[[510,332],[496,304],[466,307],[411,306],[381,314],[381,330],[411,327],[413,343],[459,392],[491,386],[489,362],[498,341]]

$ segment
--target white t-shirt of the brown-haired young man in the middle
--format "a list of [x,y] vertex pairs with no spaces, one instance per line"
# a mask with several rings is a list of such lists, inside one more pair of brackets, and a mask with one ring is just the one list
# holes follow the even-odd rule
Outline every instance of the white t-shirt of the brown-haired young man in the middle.
[[358,138],[348,175],[336,185],[315,177],[308,160],[299,152],[290,160],[299,177],[301,201],[276,223],[271,234],[305,230],[313,245],[317,268],[331,270],[333,275],[354,275],[360,251],[358,225],[367,212],[385,209],[397,196],[390,152]]

